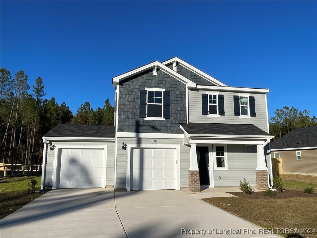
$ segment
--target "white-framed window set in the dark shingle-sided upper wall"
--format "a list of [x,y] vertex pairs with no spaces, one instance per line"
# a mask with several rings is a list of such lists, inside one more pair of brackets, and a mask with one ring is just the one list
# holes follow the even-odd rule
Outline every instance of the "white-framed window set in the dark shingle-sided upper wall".
[[161,120],[163,117],[163,92],[165,89],[145,88],[146,96],[146,115],[145,120]]

